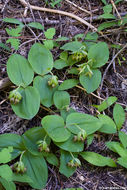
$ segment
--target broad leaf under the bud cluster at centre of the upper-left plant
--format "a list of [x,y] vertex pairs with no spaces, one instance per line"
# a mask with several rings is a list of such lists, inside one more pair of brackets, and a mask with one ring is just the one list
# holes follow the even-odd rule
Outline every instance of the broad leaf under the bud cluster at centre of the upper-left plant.
[[53,104],[53,94],[57,90],[57,87],[52,88],[48,85],[51,77],[51,75],[37,76],[33,81],[33,86],[39,91],[41,104],[46,107],[50,107]]

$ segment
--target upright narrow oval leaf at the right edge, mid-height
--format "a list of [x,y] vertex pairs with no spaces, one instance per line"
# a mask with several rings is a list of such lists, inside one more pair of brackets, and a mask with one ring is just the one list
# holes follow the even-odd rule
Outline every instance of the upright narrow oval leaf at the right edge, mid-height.
[[125,122],[125,112],[121,105],[116,104],[113,109],[113,118],[115,120],[117,129],[120,130]]

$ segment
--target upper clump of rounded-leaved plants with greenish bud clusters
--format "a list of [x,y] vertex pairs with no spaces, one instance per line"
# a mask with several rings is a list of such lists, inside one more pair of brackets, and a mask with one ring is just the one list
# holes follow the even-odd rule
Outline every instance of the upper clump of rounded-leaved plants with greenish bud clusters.
[[[63,39],[53,40],[54,28],[48,29],[44,34],[46,37],[43,41],[44,45],[35,43],[28,53],[28,60],[19,54],[13,54],[7,62],[8,76],[18,86],[9,95],[12,109],[19,117],[25,119],[31,119],[37,114],[40,102],[46,107],[54,103],[56,108],[61,110],[69,106],[69,94],[63,90],[72,88],[79,82],[88,93],[96,90],[101,82],[101,72],[98,68],[103,66],[109,58],[106,43],[85,45],[85,42],[74,40],[60,47],[63,51],[60,58],[54,62],[50,49],[53,49],[55,42],[58,43]],[[59,79],[52,73],[52,70],[64,67],[67,70],[71,68],[68,72],[77,76],[75,79],[65,80],[59,86]],[[38,74],[35,78],[34,73]],[[32,82],[33,86],[31,86]],[[63,97],[63,100],[60,97]]]

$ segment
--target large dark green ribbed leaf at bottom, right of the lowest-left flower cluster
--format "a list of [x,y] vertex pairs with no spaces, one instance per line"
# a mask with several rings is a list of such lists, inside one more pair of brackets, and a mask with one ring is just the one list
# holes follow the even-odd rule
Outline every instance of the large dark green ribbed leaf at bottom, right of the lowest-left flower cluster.
[[33,156],[29,152],[25,152],[22,157],[23,163],[32,182],[29,185],[35,189],[43,189],[48,179],[48,168],[43,156]]

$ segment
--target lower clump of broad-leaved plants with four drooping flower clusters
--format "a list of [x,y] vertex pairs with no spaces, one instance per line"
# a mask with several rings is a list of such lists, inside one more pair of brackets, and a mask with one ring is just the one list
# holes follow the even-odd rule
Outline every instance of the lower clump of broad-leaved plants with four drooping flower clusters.
[[[92,123],[94,123],[95,127],[92,127]],[[110,158],[106,158],[95,153],[83,152],[86,134],[89,136],[100,127],[101,124],[99,120],[87,114],[69,114],[66,118],[66,124],[61,116],[45,116],[42,119],[42,127],[29,129],[21,137],[16,134],[1,135],[1,154],[3,155],[3,160],[6,156],[6,162],[20,156],[19,161],[12,167],[13,171],[17,174],[12,171],[10,172],[12,175],[18,176],[18,181],[24,182],[23,179],[26,179],[25,182],[32,188],[42,189],[45,187],[48,177],[46,161],[58,167],[60,173],[64,174],[66,177],[70,177],[75,172],[76,168],[81,165],[78,158],[79,155],[94,165],[98,165],[99,159],[99,162],[101,162],[99,166],[116,166],[115,162]],[[79,137],[79,133],[84,131],[86,131],[84,140],[82,141],[80,138],[75,140],[75,136],[77,135],[77,137]],[[50,149],[51,140],[54,145],[56,145],[54,150]],[[13,146],[13,148],[5,148],[9,146]],[[56,154],[59,148],[59,154]],[[86,154],[86,156],[84,156],[84,154]],[[92,156],[90,157],[89,154],[92,154]],[[60,162],[58,159],[59,155]],[[87,155],[89,159],[87,159]],[[22,175],[20,173],[22,173]],[[25,178],[26,176],[28,177]],[[5,178],[4,176],[2,177]],[[12,181],[15,181],[15,178],[5,179],[10,180],[11,183]]]

